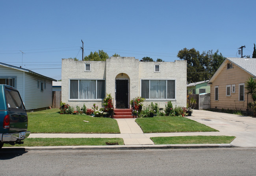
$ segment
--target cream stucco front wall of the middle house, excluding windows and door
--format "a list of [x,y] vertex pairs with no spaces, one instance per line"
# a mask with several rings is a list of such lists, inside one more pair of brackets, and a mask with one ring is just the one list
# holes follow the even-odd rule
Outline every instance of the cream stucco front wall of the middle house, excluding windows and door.
[[[91,64],[91,71],[85,71],[85,64]],[[160,65],[160,72],[154,72],[155,64]],[[122,74],[123,73],[123,74]],[[115,107],[115,79],[129,80],[129,101],[141,96],[141,79],[173,79],[176,83],[176,99],[146,100],[143,105],[158,103],[160,108],[165,108],[167,101],[173,105],[186,106],[187,90],[187,61],[175,62],[140,62],[134,57],[111,57],[106,61],[74,61],[62,59],[61,70],[61,99],[70,106],[85,106],[91,108],[93,103],[102,107],[101,99],[76,100],[69,99],[70,79],[105,79],[106,93],[111,94]]]

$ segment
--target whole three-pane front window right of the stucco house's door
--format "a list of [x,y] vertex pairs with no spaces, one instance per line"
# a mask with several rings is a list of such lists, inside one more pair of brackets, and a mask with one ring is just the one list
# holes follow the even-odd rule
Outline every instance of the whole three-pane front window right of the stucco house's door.
[[175,99],[175,80],[141,80],[141,97]]

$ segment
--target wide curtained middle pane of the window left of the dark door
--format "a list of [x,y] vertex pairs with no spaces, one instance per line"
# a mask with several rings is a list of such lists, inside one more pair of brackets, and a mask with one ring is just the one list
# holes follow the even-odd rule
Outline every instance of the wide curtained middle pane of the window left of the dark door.
[[79,80],[79,99],[96,99],[96,80]]

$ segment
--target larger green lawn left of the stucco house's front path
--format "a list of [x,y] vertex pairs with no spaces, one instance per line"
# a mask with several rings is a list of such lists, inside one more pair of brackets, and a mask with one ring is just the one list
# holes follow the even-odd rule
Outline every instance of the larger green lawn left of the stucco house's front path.
[[115,119],[59,114],[59,109],[29,112],[28,131],[31,133],[120,133]]

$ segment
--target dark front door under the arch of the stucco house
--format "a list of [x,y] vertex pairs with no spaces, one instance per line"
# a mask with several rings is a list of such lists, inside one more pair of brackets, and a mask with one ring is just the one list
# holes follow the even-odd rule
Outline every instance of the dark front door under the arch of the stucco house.
[[115,106],[116,108],[129,108],[128,96],[129,96],[129,81],[128,79],[116,79],[115,80]]

